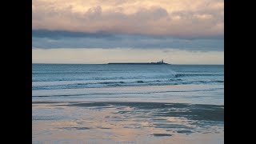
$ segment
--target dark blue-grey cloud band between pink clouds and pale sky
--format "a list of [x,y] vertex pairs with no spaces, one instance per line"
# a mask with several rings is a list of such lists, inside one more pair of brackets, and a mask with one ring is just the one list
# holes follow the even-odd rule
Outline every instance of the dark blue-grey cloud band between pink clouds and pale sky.
[[174,38],[133,34],[82,33],[69,31],[32,30],[32,46],[54,48],[140,48],[222,51],[222,38]]

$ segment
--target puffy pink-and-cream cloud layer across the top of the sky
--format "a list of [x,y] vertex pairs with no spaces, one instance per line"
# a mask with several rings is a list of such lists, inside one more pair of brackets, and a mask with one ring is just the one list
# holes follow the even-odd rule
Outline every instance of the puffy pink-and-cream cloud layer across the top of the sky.
[[34,30],[146,34],[173,37],[223,35],[223,0],[33,0]]

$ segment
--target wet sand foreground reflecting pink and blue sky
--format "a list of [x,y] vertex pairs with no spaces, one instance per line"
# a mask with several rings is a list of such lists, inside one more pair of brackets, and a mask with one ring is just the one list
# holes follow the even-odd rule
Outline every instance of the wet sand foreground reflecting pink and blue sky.
[[33,143],[223,143],[223,106],[33,102]]

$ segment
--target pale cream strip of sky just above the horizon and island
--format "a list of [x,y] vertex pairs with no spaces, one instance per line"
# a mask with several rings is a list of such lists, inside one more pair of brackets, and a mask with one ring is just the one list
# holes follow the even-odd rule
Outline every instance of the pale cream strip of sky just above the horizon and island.
[[223,51],[128,48],[32,49],[33,63],[158,62],[162,58],[171,64],[224,64]]

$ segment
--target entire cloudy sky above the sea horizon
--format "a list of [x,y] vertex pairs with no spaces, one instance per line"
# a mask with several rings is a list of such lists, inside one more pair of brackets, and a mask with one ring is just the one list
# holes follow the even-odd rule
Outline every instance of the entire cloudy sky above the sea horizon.
[[32,0],[33,63],[224,64],[223,0]]

